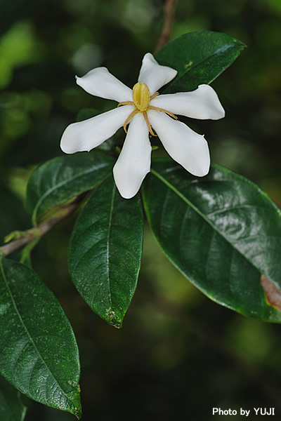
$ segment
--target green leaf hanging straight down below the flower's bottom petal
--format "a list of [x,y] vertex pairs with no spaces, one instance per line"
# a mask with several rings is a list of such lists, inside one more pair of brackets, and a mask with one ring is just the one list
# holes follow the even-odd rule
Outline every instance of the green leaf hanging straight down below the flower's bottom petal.
[[70,276],[87,304],[120,328],[136,290],[143,245],[138,196],[122,199],[112,176],[81,211],[70,239]]

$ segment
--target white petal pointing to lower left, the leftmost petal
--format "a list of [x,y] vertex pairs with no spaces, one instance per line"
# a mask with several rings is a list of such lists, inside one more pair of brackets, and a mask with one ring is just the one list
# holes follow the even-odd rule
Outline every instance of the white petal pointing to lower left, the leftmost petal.
[[79,123],[67,126],[60,140],[60,148],[65,154],[91,151],[105,140],[111,138],[123,126],[133,106],[124,105],[99,114]]

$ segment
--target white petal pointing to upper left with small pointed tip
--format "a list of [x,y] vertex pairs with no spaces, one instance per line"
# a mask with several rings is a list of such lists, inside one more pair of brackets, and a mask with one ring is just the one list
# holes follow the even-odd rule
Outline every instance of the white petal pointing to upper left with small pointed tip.
[[76,76],[76,82],[86,92],[106,100],[117,102],[133,100],[131,88],[108,72],[106,67],[97,67],[82,77]]

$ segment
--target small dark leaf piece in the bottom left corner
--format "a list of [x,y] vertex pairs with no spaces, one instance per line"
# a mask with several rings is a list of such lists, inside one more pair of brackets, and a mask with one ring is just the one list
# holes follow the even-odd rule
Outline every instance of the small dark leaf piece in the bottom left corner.
[[0,420],[23,421],[26,410],[20,401],[20,392],[0,376]]

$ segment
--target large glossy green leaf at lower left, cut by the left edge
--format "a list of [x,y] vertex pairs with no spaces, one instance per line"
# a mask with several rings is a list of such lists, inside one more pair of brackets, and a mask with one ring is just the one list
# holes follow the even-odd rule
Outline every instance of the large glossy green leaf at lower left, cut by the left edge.
[[63,309],[32,269],[0,260],[0,371],[34,401],[81,416],[79,354]]

